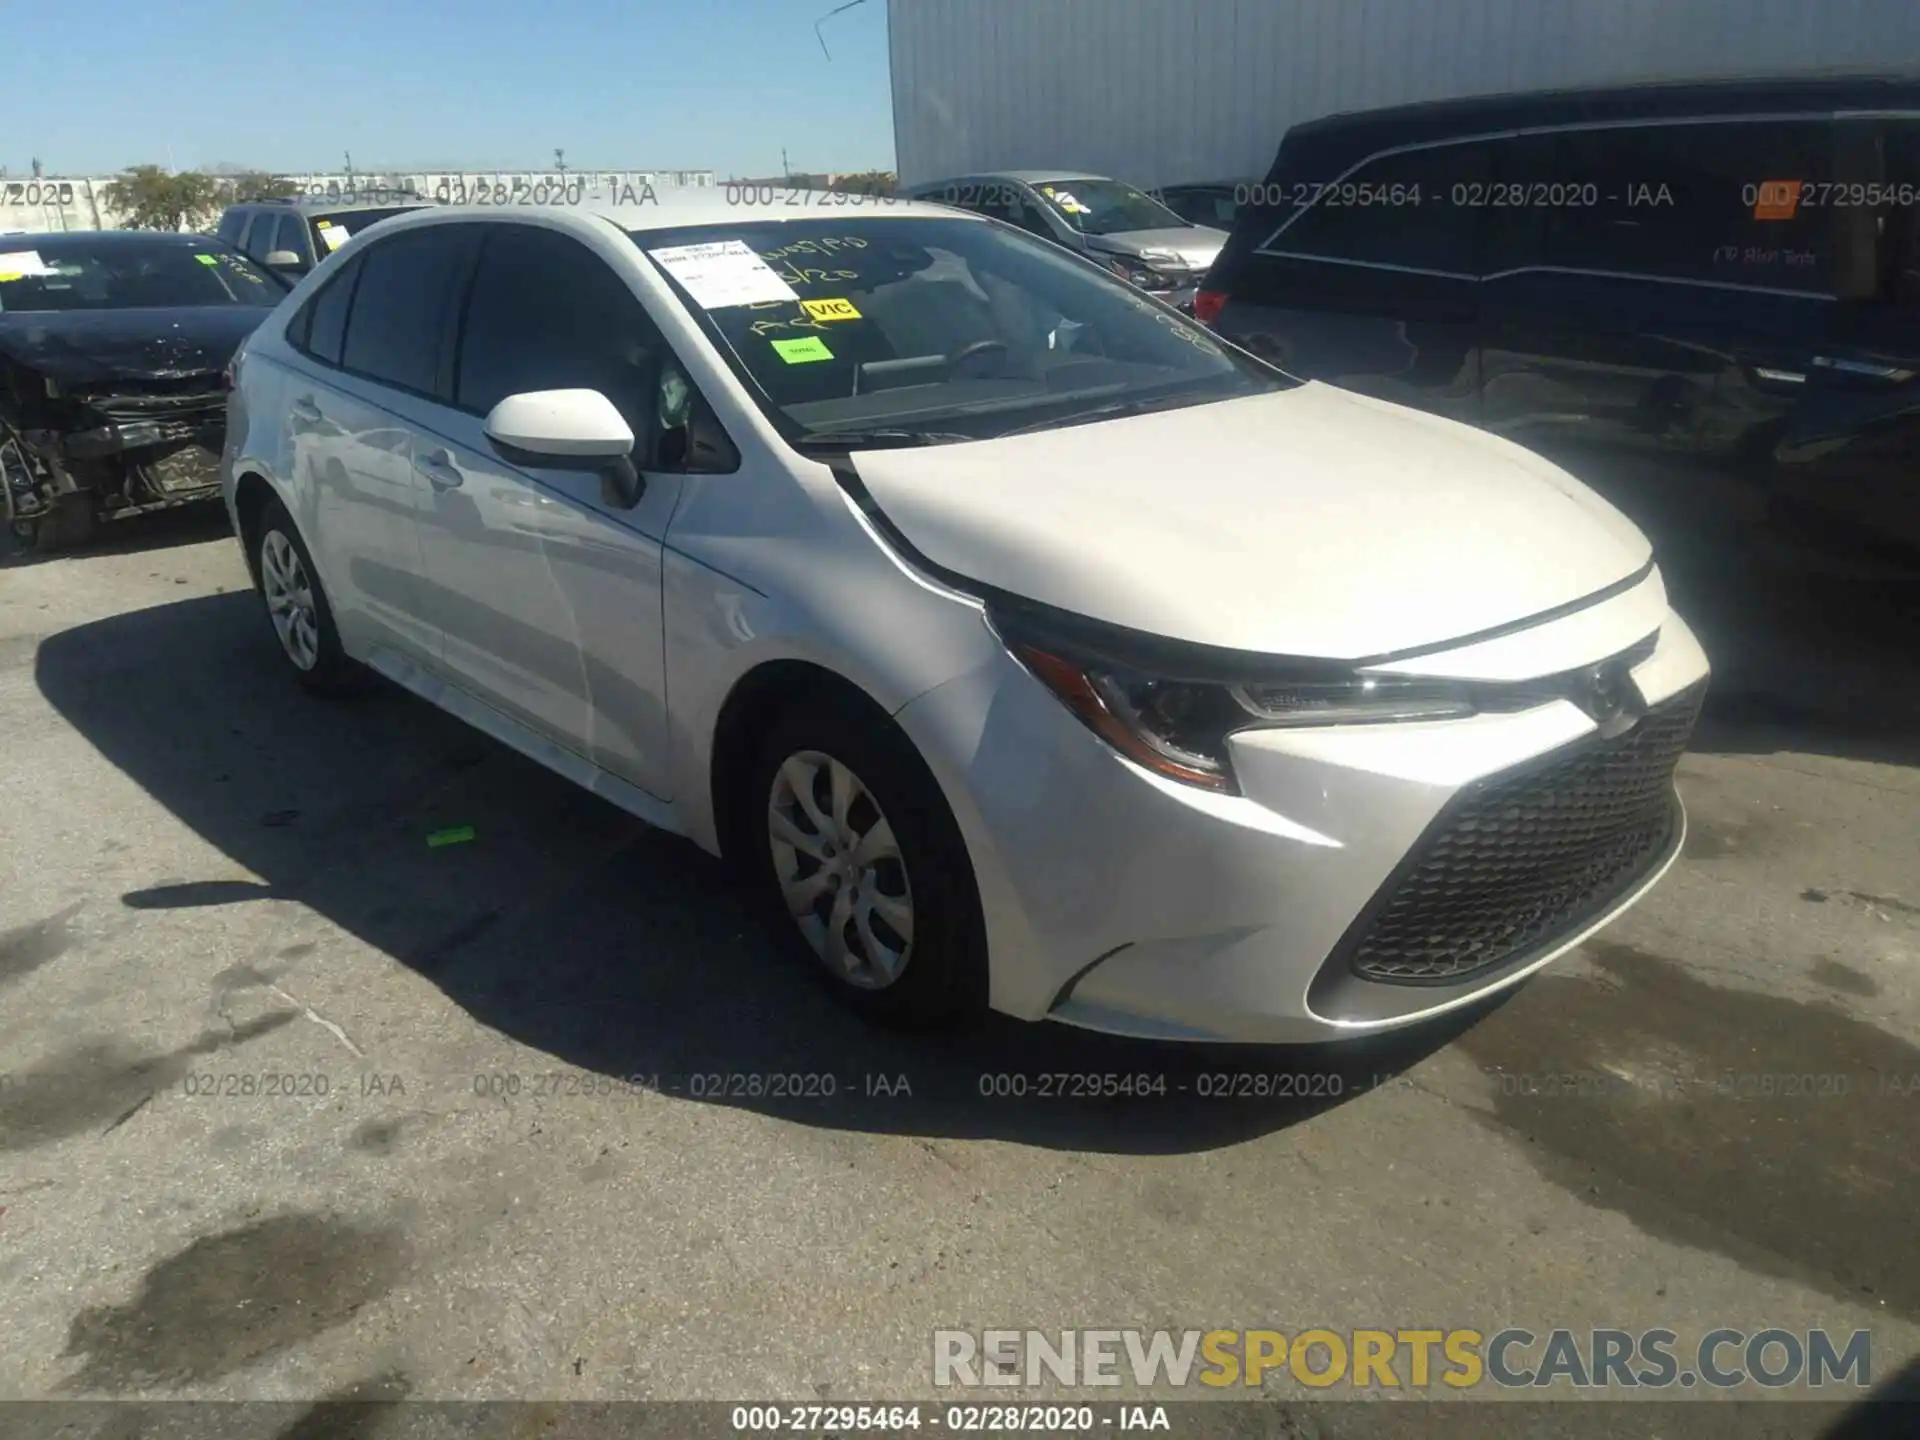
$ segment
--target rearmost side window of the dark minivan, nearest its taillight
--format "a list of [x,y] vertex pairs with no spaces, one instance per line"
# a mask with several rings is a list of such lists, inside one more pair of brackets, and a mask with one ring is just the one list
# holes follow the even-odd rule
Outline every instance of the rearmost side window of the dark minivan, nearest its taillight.
[[1478,211],[1469,202],[1486,177],[1486,146],[1463,142],[1379,156],[1352,175],[1294,175],[1252,190],[1292,215],[1263,250],[1471,275]]

